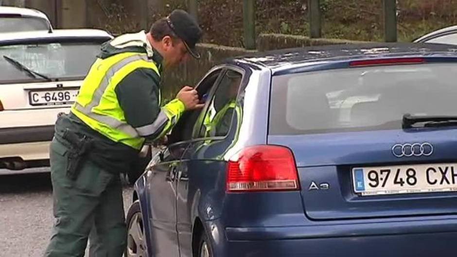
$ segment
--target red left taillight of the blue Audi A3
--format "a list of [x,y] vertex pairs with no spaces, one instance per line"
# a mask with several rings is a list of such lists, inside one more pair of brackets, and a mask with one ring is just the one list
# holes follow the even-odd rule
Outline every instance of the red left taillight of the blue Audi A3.
[[247,147],[229,160],[227,191],[298,190],[294,155],[286,147]]

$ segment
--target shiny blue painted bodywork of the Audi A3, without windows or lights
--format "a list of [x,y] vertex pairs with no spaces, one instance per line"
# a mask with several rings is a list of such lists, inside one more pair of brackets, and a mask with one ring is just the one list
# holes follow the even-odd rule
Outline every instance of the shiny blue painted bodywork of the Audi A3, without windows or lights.
[[[416,47],[416,45],[414,45]],[[282,53],[283,54],[283,53]],[[405,52],[395,55],[372,54],[369,56],[339,57],[341,60],[326,59],[313,64],[299,63],[290,65],[288,69],[283,63],[265,65],[252,63],[252,58],[235,59],[228,64],[238,66],[246,72],[254,74],[253,80],[257,84],[248,85],[242,89],[243,113],[240,128],[240,137],[235,140],[231,128],[230,135],[225,138],[211,140],[196,139],[182,143],[184,153],[179,161],[176,189],[176,239],[179,246],[179,255],[193,256],[192,244],[193,229],[197,221],[201,221],[204,233],[209,236],[211,248],[216,257],[233,256],[437,256],[453,255],[457,246],[452,244],[457,239],[456,200],[449,193],[439,193],[425,199],[421,194],[404,196],[375,196],[378,203],[398,200],[392,209],[383,209],[376,206],[376,201],[357,199],[350,190],[350,183],[343,183],[347,188],[338,188],[339,180],[348,180],[348,177],[330,176],[337,178],[330,181],[331,189],[320,195],[319,201],[307,201],[312,196],[305,192],[312,180],[320,182],[325,179],[326,172],[340,172],[341,169],[350,169],[350,163],[376,164],[376,156],[391,158],[388,155],[391,144],[379,147],[386,142],[374,135],[398,138],[406,142],[420,140],[423,133],[432,143],[437,144],[437,154],[425,162],[435,160],[455,160],[455,138],[449,133],[455,133],[454,128],[427,129],[427,130],[390,130],[345,133],[344,140],[328,140],[328,135],[300,135],[300,136],[268,136],[268,110],[271,74],[286,74],[293,72],[316,71],[324,69],[349,68],[349,62],[358,59],[386,58],[387,57],[424,57],[427,62],[456,61],[457,55],[452,53]],[[336,58],[326,56],[325,58]],[[316,58],[318,60],[319,58]],[[314,61],[316,61],[314,60]],[[269,67],[268,67],[269,66]],[[245,78],[246,80],[246,78]],[[262,101],[256,100],[262,99]],[[447,136],[446,136],[447,135]],[[325,138],[327,137],[327,139]],[[375,152],[364,152],[358,148],[345,148],[347,142],[358,140],[363,147],[377,145],[380,149]],[[234,142],[234,144],[233,144]],[[285,145],[294,151],[299,167],[300,191],[287,192],[255,192],[255,193],[227,193],[226,165],[230,154],[246,146],[257,144]],[[325,151],[325,144],[331,143],[333,151]],[[231,151],[225,147],[230,146]],[[310,151],[304,151],[310,148]],[[381,150],[383,148],[383,150]],[[385,148],[385,149],[384,149]],[[312,151],[311,151],[312,149]],[[386,150],[387,149],[387,150]],[[443,149],[443,150],[439,150]],[[451,151],[449,151],[451,150]],[[341,155],[344,151],[344,155]],[[325,152],[325,154],[322,154]],[[339,153],[339,155],[338,155]],[[388,155],[388,156],[387,156]],[[417,157],[412,157],[417,158]],[[405,161],[411,161],[408,159]],[[135,190],[141,202],[141,211],[146,230],[146,241],[149,256],[154,256],[155,246],[152,227],[153,215],[149,210],[151,205],[160,208],[161,203],[151,202],[147,193],[148,177],[151,171],[146,171],[137,181]],[[305,174],[306,173],[306,174]],[[328,181],[326,181],[328,182]],[[341,195],[343,192],[343,195]],[[306,195],[308,193],[308,195]],[[313,193],[313,192],[312,192]],[[376,199],[378,198],[378,199]],[[397,199],[398,198],[398,199]],[[342,199],[345,204],[342,203]],[[442,200],[435,205],[427,205],[427,200]],[[338,201],[339,200],[339,201]],[[407,200],[407,201],[405,201]],[[348,206],[349,203],[349,206]],[[390,202],[389,204],[391,204]],[[430,202],[431,203],[431,202]],[[352,206],[350,206],[352,205]],[[326,211],[320,211],[324,206]],[[329,206],[331,207],[329,210]],[[438,209],[434,210],[432,207]],[[305,211],[304,211],[305,210]],[[403,211],[402,211],[403,210]],[[414,213],[412,213],[412,210]],[[355,211],[355,212],[354,212]],[[395,211],[395,216],[389,215]],[[436,212],[437,215],[433,215]],[[354,216],[354,213],[356,215]],[[365,215],[367,215],[366,218]],[[416,215],[421,214],[421,215]],[[425,215],[426,214],[426,215]],[[173,241],[173,240],[172,240]],[[167,255],[162,252],[162,256]]]

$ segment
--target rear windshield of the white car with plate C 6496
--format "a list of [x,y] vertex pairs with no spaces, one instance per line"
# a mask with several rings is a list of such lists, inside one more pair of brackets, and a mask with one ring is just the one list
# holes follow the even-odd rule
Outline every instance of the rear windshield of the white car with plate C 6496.
[[51,79],[84,77],[101,43],[40,43],[0,46],[0,84],[41,79],[18,69],[11,59]]

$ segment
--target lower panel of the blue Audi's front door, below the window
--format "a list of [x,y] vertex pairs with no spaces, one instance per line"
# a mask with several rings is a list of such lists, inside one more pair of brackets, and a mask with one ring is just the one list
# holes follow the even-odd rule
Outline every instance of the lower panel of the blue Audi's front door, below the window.
[[147,191],[151,220],[150,252],[155,257],[179,255],[176,234],[176,172],[188,144],[176,143],[161,154],[161,161],[150,167]]

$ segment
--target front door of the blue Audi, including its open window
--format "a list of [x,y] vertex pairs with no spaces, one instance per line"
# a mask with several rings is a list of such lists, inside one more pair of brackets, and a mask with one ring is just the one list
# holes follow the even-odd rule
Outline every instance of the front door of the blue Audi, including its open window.
[[[200,98],[217,80],[221,68],[212,69],[196,86]],[[160,161],[150,167],[147,190],[151,219],[151,254],[154,257],[179,256],[176,231],[176,173],[181,156],[191,143],[193,124],[201,109],[185,112],[168,135],[168,147],[161,152]],[[190,125],[189,125],[190,124]]]

